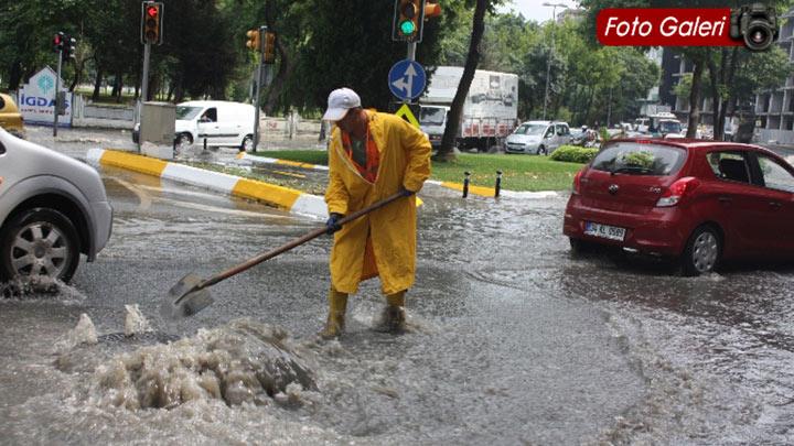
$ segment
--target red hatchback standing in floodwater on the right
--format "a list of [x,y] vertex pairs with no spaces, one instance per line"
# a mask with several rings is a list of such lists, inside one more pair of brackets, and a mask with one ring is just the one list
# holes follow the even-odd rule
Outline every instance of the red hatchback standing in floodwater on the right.
[[577,173],[564,233],[674,257],[686,275],[738,258],[794,258],[794,167],[771,151],[697,140],[608,143]]

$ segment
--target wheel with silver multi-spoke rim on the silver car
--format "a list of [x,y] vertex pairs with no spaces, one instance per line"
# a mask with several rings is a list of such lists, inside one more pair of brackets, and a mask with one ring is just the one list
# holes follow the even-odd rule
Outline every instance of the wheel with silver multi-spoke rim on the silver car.
[[26,210],[0,231],[0,275],[4,279],[45,276],[68,282],[78,263],[77,230],[57,210]]

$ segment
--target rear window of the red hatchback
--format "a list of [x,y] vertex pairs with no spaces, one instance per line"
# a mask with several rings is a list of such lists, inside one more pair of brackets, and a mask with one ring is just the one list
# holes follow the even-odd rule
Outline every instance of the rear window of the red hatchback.
[[669,145],[619,142],[601,151],[591,168],[634,175],[670,175],[680,168],[686,151]]

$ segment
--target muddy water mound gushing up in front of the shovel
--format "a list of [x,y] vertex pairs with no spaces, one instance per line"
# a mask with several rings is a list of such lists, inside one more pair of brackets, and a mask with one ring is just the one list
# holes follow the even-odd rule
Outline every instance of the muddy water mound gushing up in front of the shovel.
[[129,410],[173,409],[194,400],[298,404],[303,390],[316,390],[287,333],[249,319],[116,356],[97,367],[92,381],[99,404]]

